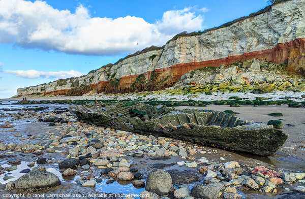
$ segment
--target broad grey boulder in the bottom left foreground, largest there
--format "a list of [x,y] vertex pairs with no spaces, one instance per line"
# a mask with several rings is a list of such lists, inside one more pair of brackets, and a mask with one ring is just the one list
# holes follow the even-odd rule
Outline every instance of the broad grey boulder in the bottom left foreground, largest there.
[[59,178],[47,171],[29,172],[15,181],[19,191],[34,192],[60,185]]

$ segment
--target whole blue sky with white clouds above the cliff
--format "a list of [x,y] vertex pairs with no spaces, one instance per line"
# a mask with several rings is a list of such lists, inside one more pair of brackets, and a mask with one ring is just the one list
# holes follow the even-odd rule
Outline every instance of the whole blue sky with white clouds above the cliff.
[[266,6],[266,0],[0,0],[0,98]]

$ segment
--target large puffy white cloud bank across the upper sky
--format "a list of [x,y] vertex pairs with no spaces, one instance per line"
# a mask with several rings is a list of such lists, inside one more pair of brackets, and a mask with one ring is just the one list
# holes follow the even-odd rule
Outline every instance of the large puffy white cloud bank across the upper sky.
[[161,46],[181,31],[201,30],[204,21],[194,8],[167,11],[156,23],[134,16],[93,18],[81,5],[71,13],[41,1],[0,0],[0,8],[0,43],[87,55]]

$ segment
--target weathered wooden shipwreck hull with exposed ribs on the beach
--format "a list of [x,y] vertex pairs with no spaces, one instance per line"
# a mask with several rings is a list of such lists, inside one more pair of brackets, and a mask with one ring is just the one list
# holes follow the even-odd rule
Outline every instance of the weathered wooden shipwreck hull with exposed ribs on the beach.
[[243,121],[221,111],[178,111],[166,106],[117,103],[107,107],[70,107],[70,112],[89,124],[261,156],[272,155],[288,138],[272,125]]

